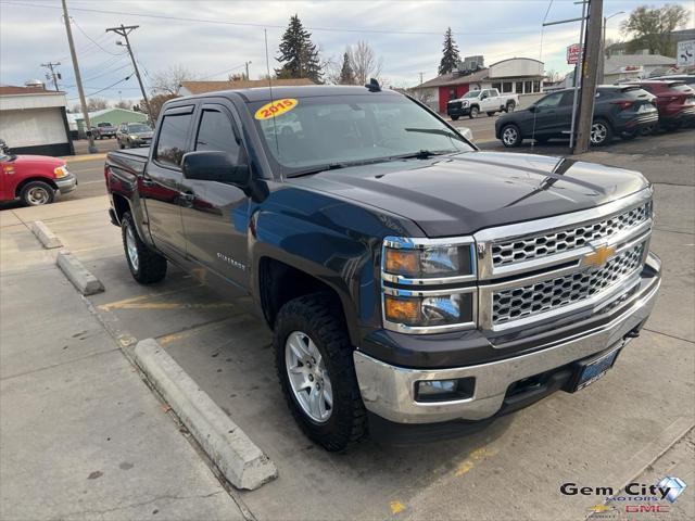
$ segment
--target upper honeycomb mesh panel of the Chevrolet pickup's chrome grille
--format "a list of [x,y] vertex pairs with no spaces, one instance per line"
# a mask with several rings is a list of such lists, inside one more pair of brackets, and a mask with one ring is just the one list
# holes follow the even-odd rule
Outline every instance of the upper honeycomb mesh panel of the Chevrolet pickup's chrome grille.
[[540,257],[568,252],[592,241],[616,236],[647,221],[652,216],[652,203],[647,202],[628,212],[582,224],[559,231],[515,239],[492,244],[492,264],[507,266]]

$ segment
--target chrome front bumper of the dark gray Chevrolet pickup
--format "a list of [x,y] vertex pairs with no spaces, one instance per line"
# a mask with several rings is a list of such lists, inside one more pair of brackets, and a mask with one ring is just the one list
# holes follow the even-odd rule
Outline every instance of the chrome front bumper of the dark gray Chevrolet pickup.
[[[649,255],[658,274],[660,263]],[[586,358],[610,346],[627,344],[626,335],[652,313],[660,285],[657,276],[647,288],[621,305],[612,321],[561,342],[548,344],[528,355],[478,366],[448,369],[407,369],[384,364],[359,351],[354,352],[355,371],[365,407],[397,423],[433,423],[455,419],[482,420],[503,405],[509,385],[516,381]],[[452,402],[415,401],[415,384],[422,380],[476,379],[470,398]]]

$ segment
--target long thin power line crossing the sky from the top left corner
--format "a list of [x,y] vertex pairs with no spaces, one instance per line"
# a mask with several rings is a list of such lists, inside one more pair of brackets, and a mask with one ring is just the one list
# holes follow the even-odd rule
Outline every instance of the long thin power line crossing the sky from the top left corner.
[[[31,3],[22,3],[14,1],[0,1],[0,3],[4,3],[8,5],[23,5],[27,8],[43,8],[43,9],[56,9],[53,5],[40,5],[40,4],[31,4]],[[232,25],[238,27],[257,27],[257,28],[275,28],[275,29],[285,29],[287,28],[285,25],[274,25],[274,24],[256,24],[249,22],[227,22],[224,20],[207,20],[207,18],[191,18],[191,17],[182,17],[182,16],[166,16],[163,14],[146,14],[146,13],[134,13],[127,11],[111,11],[111,10],[101,10],[101,9],[89,9],[89,8],[73,8],[73,11],[83,11],[87,13],[100,13],[100,14],[119,14],[125,16],[139,16],[142,18],[156,18],[156,20],[168,20],[173,22],[197,22],[202,24],[219,24],[219,25]],[[441,30],[393,30],[393,29],[366,29],[366,28],[341,28],[341,27],[306,27],[307,30],[319,30],[327,33],[370,33],[370,34],[383,34],[383,35],[437,35],[441,36]],[[522,35],[522,34],[535,34],[538,29],[533,30],[511,30],[511,29],[503,29],[503,30],[481,30],[481,31],[463,31],[463,30],[452,30],[452,33],[456,36],[475,36],[475,35]]]

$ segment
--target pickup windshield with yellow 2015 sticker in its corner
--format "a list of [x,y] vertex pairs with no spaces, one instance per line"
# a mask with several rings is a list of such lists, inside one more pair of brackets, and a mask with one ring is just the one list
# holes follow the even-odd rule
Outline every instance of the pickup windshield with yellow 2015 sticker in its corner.
[[[268,106],[279,107],[275,117]],[[321,166],[472,150],[458,132],[402,96],[278,99],[250,109],[266,152],[288,177]]]

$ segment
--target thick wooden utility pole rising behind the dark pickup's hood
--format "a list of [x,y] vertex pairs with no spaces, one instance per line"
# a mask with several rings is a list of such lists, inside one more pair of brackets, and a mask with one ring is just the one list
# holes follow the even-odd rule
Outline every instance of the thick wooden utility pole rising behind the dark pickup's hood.
[[601,63],[601,26],[603,21],[604,0],[590,0],[589,21],[586,23],[586,37],[584,60],[580,74],[582,87],[579,100],[579,120],[577,125],[577,141],[573,154],[583,154],[589,151],[591,128],[594,117],[594,99],[596,97],[596,79]]

